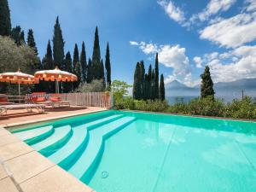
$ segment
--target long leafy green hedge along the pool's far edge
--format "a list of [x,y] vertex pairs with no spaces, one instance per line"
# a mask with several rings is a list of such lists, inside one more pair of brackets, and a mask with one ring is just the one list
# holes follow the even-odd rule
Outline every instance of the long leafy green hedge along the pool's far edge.
[[246,96],[243,100],[234,100],[225,104],[221,99],[195,98],[190,102],[176,102],[168,105],[166,101],[133,100],[131,97],[115,101],[115,108],[140,111],[181,113],[190,115],[206,115],[217,117],[256,119],[256,98]]

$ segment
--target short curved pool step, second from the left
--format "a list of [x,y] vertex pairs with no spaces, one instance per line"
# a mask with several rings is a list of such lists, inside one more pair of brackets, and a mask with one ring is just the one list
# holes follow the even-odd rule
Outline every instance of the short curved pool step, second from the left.
[[72,135],[73,130],[70,125],[57,127],[55,128],[54,134],[39,143],[33,144],[32,148],[35,148],[45,156],[49,156],[49,154],[53,154],[56,149],[61,148],[67,143]]

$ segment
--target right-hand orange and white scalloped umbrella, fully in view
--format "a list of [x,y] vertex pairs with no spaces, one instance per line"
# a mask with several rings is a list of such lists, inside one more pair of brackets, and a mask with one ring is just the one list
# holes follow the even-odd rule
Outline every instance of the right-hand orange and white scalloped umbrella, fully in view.
[[56,92],[59,92],[59,84],[58,82],[70,82],[77,81],[78,77],[73,73],[68,73],[65,71],[61,71],[58,67],[55,67],[53,70],[43,70],[35,73],[34,78],[36,80],[44,80],[44,81],[55,81],[56,82]]

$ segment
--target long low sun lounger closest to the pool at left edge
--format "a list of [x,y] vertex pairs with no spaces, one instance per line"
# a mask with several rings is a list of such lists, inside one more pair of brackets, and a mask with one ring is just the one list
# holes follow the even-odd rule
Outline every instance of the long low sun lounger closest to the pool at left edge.
[[29,112],[32,112],[32,109],[35,108],[38,110],[38,113],[44,113],[44,104],[15,104],[15,105],[2,105],[0,106],[0,115],[7,113],[11,109],[26,109]]

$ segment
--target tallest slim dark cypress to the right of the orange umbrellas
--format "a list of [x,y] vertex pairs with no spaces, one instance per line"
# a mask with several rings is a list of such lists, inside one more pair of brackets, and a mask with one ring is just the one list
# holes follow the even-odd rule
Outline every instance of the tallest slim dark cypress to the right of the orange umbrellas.
[[101,49],[99,42],[98,27],[96,26],[93,53],[92,53],[92,74],[93,79],[102,79],[101,70]]

